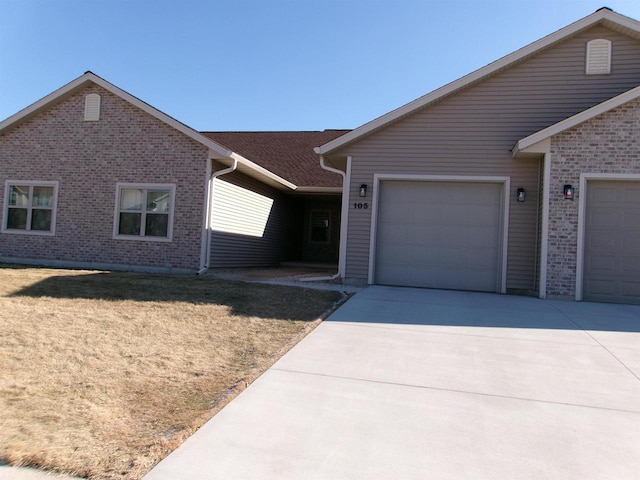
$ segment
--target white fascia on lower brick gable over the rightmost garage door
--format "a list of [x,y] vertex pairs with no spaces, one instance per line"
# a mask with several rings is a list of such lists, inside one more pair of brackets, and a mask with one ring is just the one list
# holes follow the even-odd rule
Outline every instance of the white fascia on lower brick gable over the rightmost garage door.
[[[528,137],[518,140],[515,147],[513,147],[513,156],[515,157],[519,153],[534,152],[537,145],[544,145],[554,135],[557,135],[565,130],[573,128],[581,123],[591,120],[598,115],[613,110],[627,102],[640,98],[640,87],[632,88],[624,93],[621,93],[617,97],[610,98],[598,105],[595,105],[587,110],[584,110],[572,117],[566,118],[558,123],[540,130]],[[544,152],[542,152],[544,153]]]

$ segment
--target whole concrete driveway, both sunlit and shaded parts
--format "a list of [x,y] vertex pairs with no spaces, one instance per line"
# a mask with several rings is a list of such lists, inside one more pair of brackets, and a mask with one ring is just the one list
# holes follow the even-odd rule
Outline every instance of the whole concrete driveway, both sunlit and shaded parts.
[[145,479],[639,472],[640,306],[375,286]]

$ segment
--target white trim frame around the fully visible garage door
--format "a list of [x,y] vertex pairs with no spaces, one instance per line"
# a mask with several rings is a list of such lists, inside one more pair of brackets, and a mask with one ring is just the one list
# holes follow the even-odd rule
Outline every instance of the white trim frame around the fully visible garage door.
[[407,182],[476,182],[476,183],[499,183],[503,185],[502,190],[502,238],[500,248],[500,265],[498,265],[499,288],[498,293],[507,292],[507,252],[509,247],[509,192],[511,191],[511,178],[500,176],[473,176],[473,175],[406,175],[406,174],[379,174],[373,176],[373,191],[376,192],[372,198],[371,208],[371,229],[369,232],[369,270],[367,283],[372,285],[375,278],[375,256],[376,256],[376,232],[378,228],[378,203],[380,192],[380,182],[389,180],[400,180]]

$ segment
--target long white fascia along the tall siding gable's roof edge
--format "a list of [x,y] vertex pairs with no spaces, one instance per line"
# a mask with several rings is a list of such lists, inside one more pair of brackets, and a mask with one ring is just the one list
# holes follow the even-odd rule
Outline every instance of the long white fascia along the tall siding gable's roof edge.
[[640,34],[640,22],[612,12],[608,9],[598,10],[597,12],[592,13],[591,15],[578,20],[577,22],[574,22],[550,35],[547,35],[546,37],[543,37],[540,40],[527,45],[526,47],[516,50],[515,52],[502,57],[501,59],[496,60],[495,62],[492,62],[489,65],[480,68],[479,70],[476,70],[462,78],[459,78],[458,80],[455,80],[437,90],[434,90],[431,93],[428,93],[427,95],[424,95],[410,103],[407,103],[406,105],[393,110],[386,115],[383,115],[369,123],[362,125],[361,127],[356,128],[355,130],[352,130],[349,133],[342,135],[341,137],[336,138],[335,140],[317,147],[315,149],[315,152],[319,155],[327,155],[337,150],[338,148],[351,143],[358,138],[367,135],[368,133],[371,133],[374,130],[382,128],[394,122],[395,120],[398,120],[399,118],[409,115],[412,112],[423,108],[441,98],[444,98],[445,96],[450,95],[458,90],[461,90],[462,88],[467,87],[479,80],[488,78],[491,75],[499,72],[500,70],[503,70],[511,66],[512,64],[603,20],[608,21],[610,24],[620,25],[622,27],[628,28]]

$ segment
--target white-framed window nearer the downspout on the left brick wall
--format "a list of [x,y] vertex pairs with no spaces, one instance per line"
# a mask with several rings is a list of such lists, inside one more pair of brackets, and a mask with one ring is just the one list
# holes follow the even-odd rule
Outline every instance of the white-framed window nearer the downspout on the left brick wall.
[[119,183],[116,190],[116,238],[171,240],[175,185]]

